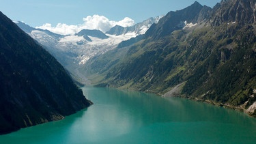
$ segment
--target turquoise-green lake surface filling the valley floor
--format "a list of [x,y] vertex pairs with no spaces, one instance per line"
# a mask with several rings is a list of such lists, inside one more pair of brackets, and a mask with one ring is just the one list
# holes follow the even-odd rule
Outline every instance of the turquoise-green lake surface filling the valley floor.
[[84,87],[88,109],[11,134],[0,143],[256,143],[256,119],[182,98]]

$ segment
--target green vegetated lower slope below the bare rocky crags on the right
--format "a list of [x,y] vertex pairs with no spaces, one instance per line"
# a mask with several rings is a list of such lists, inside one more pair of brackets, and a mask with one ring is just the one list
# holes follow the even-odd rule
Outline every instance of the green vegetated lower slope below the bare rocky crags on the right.
[[[224,34],[222,29],[227,29]],[[185,82],[182,96],[232,106],[248,101],[247,108],[255,101],[255,38],[254,25],[212,28],[203,23],[110,51],[94,59],[89,70],[101,86],[163,94]]]

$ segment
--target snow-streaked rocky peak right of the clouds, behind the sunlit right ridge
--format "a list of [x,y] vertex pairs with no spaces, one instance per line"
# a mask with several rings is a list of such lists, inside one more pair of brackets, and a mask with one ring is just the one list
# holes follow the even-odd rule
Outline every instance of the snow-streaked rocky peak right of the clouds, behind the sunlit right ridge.
[[132,27],[122,27],[119,25],[115,25],[115,27],[111,28],[109,31],[106,31],[107,34],[110,35],[124,35],[126,33],[137,33],[138,35],[144,34],[147,29],[154,23],[158,23],[158,21],[162,18],[162,16],[157,16],[156,18],[148,18],[141,23],[137,23]]

